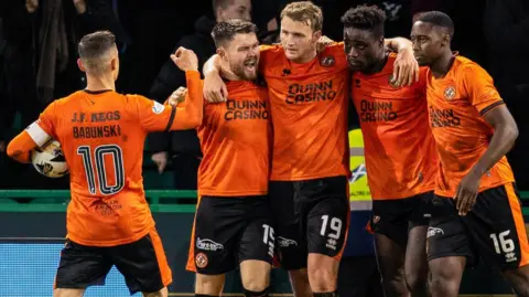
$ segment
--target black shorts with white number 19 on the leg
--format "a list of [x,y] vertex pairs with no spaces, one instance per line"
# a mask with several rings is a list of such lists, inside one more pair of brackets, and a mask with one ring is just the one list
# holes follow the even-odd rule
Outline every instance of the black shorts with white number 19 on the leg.
[[349,223],[347,185],[346,177],[270,182],[278,255],[284,269],[305,268],[309,253],[342,257]]

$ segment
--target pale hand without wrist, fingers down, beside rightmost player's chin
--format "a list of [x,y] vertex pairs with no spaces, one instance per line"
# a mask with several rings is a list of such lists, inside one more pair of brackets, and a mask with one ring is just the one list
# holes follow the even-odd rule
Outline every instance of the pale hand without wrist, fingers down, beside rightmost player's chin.
[[393,81],[396,86],[410,86],[419,81],[419,63],[413,56],[413,49],[407,47],[397,54],[393,64]]

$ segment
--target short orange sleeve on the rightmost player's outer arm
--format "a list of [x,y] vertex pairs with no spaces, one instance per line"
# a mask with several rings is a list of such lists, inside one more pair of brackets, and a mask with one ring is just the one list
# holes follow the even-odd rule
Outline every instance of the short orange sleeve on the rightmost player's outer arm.
[[463,70],[463,85],[468,99],[482,116],[504,104],[494,86],[493,77],[484,68],[478,65],[467,65]]

